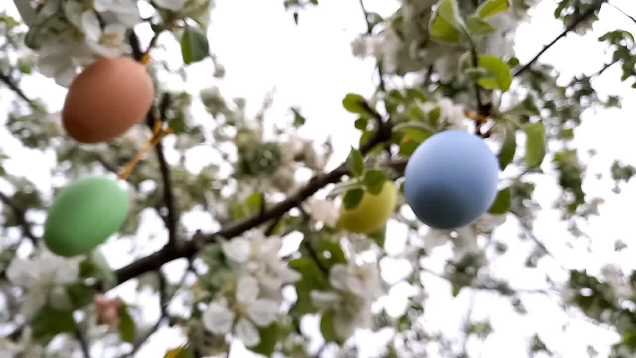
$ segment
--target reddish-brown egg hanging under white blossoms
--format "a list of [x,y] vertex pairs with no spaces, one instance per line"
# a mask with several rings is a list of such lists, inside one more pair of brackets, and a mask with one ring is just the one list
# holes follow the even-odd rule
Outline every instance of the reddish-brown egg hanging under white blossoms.
[[62,125],[81,143],[112,140],[146,117],[153,91],[142,64],[130,57],[102,57],[71,82]]

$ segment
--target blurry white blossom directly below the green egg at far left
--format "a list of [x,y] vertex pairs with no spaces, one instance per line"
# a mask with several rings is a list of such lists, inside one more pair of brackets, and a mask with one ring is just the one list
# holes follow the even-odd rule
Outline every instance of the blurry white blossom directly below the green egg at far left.
[[46,303],[59,310],[69,308],[71,302],[65,286],[78,280],[81,259],[82,257],[67,259],[48,250],[43,250],[30,259],[15,257],[7,268],[6,275],[13,285],[26,290],[22,314],[31,318]]

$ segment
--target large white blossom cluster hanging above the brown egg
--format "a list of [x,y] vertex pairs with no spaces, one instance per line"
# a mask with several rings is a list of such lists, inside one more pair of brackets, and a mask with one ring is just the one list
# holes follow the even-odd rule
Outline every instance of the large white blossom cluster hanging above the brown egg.
[[28,0],[16,1],[29,26],[25,42],[36,52],[40,73],[64,87],[97,58],[128,52],[127,31],[144,22],[142,4],[154,6],[164,22],[193,17],[204,27],[211,6],[211,0],[48,0],[34,8]]

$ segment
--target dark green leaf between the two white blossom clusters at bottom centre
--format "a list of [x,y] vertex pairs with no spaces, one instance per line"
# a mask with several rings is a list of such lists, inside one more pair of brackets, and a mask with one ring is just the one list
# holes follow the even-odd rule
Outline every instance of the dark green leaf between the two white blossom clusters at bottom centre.
[[308,257],[289,261],[289,268],[297,271],[301,276],[301,279],[295,285],[298,298],[294,305],[294,313],[305,315],[317,312],[318,309],[312,303],[309,292],[329,289],[329,283],[321,268],[314,260]]

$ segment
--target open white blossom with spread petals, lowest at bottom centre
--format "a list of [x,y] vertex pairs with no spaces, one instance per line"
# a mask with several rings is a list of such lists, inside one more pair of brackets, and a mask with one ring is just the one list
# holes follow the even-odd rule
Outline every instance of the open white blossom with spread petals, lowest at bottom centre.
[[235,287],[232,301],[225,297],[212,301],[203,315],[203,324],[214,334],[234,333],[247,347],[260,343],[258,327],[266,327],[276,319],[279,304],[259,299],[258,281],[243,276]]

